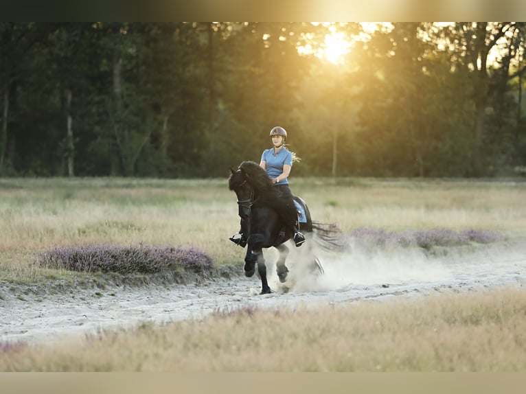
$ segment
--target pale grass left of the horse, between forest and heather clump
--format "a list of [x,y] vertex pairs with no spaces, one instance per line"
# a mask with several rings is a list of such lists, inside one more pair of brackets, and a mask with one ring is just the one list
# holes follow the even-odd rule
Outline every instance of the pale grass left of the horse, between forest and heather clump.
[[2,183],[0,279],[38,278],[41,272],[28,264],[32,256],[67,245],[196,246],[219,263],[238,259],[227,247],[239,226],[236,199],[223,180]]

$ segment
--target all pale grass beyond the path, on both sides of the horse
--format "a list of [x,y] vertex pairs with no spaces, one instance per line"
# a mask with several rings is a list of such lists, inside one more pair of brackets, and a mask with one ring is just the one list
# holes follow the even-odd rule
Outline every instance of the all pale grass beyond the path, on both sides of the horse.
[[[224,179],[0,179],[0,279],[34,281],[60,271],[32,259],[71,245],[184,246],[216,264],[240,263],[227,237],[239,229],[236,196]],[[293,178],[320,222],[346,232],[376,227],[526,230],[526,183]]]

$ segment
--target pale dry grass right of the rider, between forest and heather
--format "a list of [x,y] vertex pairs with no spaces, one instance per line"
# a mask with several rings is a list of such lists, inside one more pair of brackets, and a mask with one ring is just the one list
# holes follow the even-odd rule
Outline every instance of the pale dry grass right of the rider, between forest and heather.
[[342,183],[302,179],[295,191],[324,220],[347,230],[474,227],[520,232],[526,228],[526,183],[367,179]]

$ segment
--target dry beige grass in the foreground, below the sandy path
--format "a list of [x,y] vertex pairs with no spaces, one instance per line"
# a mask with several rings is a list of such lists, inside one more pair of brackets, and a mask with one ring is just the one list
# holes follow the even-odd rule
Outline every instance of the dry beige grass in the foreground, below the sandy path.
[[526,291],[250,308],[5,352],[2,371],[525,371]]

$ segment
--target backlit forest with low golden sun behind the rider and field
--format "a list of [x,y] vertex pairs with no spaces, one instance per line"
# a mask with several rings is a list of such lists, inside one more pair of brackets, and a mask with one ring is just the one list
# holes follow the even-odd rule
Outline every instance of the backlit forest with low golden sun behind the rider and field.
[[526,23],[0,23],[0,176],[526,169]]

